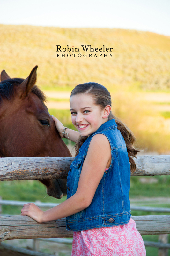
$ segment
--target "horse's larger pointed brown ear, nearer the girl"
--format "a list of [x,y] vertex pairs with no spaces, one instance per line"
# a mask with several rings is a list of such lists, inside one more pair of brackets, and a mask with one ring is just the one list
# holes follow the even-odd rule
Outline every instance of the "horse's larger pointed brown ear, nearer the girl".
[[31,92],[31,88],[34,86],[37,80],[37,68],[38,66],[35,66],[31,70],[29,76],[20,84],[20,97],[26,96]]

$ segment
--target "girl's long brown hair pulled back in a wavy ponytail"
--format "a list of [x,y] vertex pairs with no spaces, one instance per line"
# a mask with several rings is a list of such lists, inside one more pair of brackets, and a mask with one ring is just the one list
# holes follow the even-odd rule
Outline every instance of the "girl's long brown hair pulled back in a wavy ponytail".
[[[84,84],[78,84],[71,92],[71,96],[76,94],[89,94],[93,97],[94,102],[96,105],[100,106],[101,109],[104,109],[107,105],[112,106],[112,100],[110,96],[110,92],[101,84],[98,83],[84,83]],[[130,170],[131,173],[135,172],[136,170],[136,164],[132,157],[136,157],[137,152],[140,150],[137,150],[134,148],[133,144],[135,142],[135,136],[130,131],[130,129],[122,123],[121,120],[119,120],[116,116],[112,114],[110,111],[110,114],[108,116],[108,120],[115,119],[115,122],[117,124],[117,129],[121,132],[128,151],[129,156],[129,162],[130,162]],[[82,146],[82,144],[87,140],[87,136],[82,137],[80,136],[78,139],[78,142],[75,145],[76,150],[76,156],[78,154],[79,148]]]

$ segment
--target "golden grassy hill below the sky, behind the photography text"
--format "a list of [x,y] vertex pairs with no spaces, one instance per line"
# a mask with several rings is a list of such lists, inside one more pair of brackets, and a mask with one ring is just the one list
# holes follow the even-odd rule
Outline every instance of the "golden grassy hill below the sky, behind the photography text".
[[[65,90],[95,81],[113,90],[130,86],[170,91],[168,36],[125,29],[14,25],[0,25],[0,33],[0,70],[5,69],[11,77],[25,78],[38,65],[38,85],[43,89]],[[105,45],[113,48],[113,55],[56,58],[56,45],[79,49],[81,45]]]

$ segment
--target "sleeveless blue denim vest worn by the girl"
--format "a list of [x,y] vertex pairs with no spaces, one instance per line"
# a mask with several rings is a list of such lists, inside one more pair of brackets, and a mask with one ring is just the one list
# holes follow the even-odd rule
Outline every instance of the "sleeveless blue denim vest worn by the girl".
[[129,222],[131,217],[129,157],[125,141],[121,132],[117,130],[114,119],[102,124],[79,149],[78,155],[71,163],[67,177],[67,199],[77,191],[90,141],[97,133],[104,134],[110,142],[111,164],[109,169],[104,172],[90,206],[66,217],[66,229],[70,231],[124,225]]

